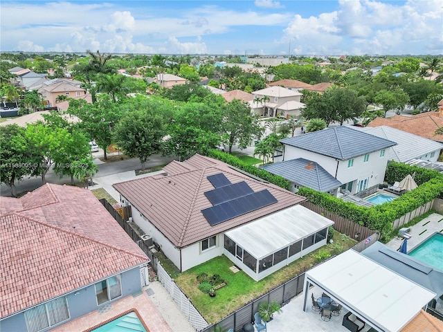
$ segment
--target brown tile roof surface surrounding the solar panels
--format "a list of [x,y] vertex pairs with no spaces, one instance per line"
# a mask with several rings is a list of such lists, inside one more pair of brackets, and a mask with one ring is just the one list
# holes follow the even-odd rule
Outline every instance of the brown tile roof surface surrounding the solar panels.
[[[178,168],[174,168],[173,173],[168,176],[140,178],[114,185],[116,190],[125,196],[177,248],[189,246],[207,237],[305,201],[302,196],[283,190],[276,185],[254,180],[231,169],[226,163],[212,158],[195,155],[183,164],[186,167],[191,165],[195,169],[180,172]],[[174,173],[174,170],[178,170],[179,173]],[[219,173],[223,173],[231,183],[246,181],[254,192],[269,190],[278,199],[278,203],[211,226],[201,210],[212,206],[204,195],[204,192],[214,189],[207,176]]]

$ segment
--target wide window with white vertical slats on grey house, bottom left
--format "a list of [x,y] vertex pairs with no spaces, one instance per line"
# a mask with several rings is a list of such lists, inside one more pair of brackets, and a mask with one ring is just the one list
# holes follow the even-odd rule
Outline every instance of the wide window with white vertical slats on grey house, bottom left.
[[69,320],[69,308],[66,296],[28,309],[24,313],[29,332],[37,332],[50,326]]

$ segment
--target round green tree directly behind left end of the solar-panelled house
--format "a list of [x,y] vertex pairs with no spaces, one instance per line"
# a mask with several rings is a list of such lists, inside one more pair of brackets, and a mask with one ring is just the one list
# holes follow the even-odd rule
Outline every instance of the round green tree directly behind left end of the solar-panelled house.
[[163,118],[149,109],[127,113],[114,127],[114,140],[125,154],[140,158],[141,167],[152,154],[161,151],[165,136]]

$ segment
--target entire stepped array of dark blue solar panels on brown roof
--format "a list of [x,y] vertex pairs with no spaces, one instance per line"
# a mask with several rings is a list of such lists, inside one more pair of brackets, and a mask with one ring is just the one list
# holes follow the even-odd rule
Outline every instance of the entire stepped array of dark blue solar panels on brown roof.
[[246,182],[230,183],[224,174],[208,176],[208,180],[215,190],[204,194],[213,206],[201,213],[211,226],[277,203],[268,190],[253,192]]

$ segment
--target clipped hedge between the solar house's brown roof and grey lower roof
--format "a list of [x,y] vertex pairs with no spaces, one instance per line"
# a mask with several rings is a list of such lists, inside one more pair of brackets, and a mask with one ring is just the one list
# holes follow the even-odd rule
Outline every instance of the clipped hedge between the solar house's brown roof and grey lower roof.
[[274,185],[278,185],[283,189],[290,190],[291,188],[291,183],[289,183],[289,181],[287,181],[282,176],[273,175],[269,172],[266,172],[264,169],[258,169],[255,166],[247,165],[246,163],[242,162],[242,160],[239,160],[239,158],[237,158],[236,156],[232,156],[230,154],[227,154],[226,152],[210,149],[208,150],[207,156],[210,158],[215,158],[217,160],[220,160],[233,167],[242,169],[242,171],[244,172],[248,172],[253,176],[257,176],[257,178],[261,178],[264,181],[273,183]]

